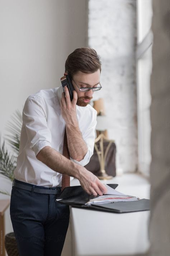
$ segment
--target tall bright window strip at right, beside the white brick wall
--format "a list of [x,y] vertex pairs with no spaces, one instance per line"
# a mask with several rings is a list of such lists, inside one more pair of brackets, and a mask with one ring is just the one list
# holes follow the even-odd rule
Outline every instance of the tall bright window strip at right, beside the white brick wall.
[[137,0],[138,170],[149,175],[151,162],[150,76],[152,72],[152,1]]

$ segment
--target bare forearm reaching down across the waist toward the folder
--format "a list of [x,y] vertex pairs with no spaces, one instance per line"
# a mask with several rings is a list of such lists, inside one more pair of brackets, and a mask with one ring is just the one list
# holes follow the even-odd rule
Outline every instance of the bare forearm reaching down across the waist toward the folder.
[[71,162],[69,159],[65,158],[65,156],[49,146],[44,147],[37,154],[37,159],[55,172],[67,174],[78,179],[80,177],[80,171],[83,172],[85,169],[84,167]]

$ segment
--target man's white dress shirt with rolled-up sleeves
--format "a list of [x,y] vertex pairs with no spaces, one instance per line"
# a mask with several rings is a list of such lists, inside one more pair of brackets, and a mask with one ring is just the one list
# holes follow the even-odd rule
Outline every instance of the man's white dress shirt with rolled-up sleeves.
[[[62,86],[41,90],[25,101],[19,155],[14,171],[16,180],[45,187],[61,186],[62,174],[43,164],[36,155],[45,146],[62,154],[65,131],[60,107],[62,92]],[[72,158],[70,160],[84,166],[89,163],[94,150],[97,112],[90,105],[76,105],[76,109],[79,128],[88,151],[80,162]]]

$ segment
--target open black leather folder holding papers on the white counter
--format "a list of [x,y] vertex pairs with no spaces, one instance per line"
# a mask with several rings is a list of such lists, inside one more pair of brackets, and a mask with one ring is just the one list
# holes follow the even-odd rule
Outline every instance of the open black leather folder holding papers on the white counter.
[[[118,184],[107,184],[108,186],[115,189]],[[105,204],[91,204],[87,205],[90,199],[97,198],[99,195],[89,195],[86,193],[81,186],[70,186],[63,189],[57,201],[61,204],[67,204],[76,208],[84,208],[95,211],[114,212],[114,213],[126,213],[126,212],[137,212],[137,211],[148,211],[150,210],[149,199],[139,199],[130,202],[114,202]]]

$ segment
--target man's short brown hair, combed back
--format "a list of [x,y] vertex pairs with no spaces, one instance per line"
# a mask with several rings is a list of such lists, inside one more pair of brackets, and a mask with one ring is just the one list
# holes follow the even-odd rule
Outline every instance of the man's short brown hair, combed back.
[[75,49],[66,59],[65,72],[72,77],[78,71],[83,73],[101,72],[100,56],[92,48]]

